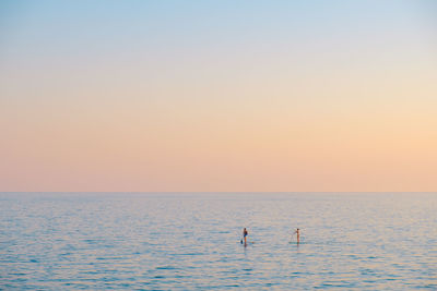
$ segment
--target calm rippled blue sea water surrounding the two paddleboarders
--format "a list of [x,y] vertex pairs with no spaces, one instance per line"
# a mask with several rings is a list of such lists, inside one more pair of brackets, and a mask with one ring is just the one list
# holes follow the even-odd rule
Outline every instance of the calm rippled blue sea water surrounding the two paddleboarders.
[[0,289],[233,288],[437,290],[437,193],[0,193]]

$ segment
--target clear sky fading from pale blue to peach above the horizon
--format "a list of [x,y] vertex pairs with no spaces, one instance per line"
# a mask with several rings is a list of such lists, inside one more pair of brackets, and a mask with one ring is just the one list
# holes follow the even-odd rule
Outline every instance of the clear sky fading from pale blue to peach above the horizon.
[[436,1],[1,1],[0,191],[437,191]]

